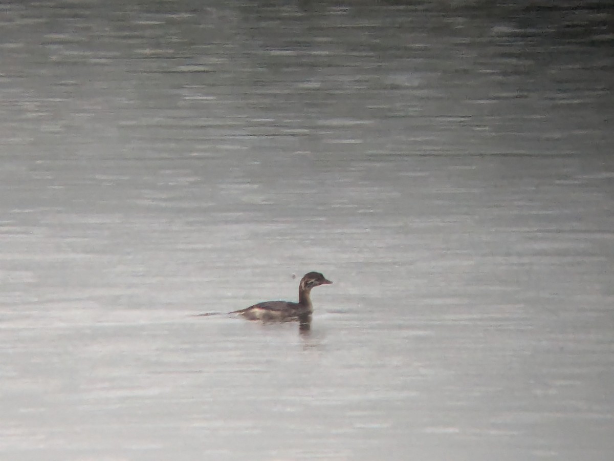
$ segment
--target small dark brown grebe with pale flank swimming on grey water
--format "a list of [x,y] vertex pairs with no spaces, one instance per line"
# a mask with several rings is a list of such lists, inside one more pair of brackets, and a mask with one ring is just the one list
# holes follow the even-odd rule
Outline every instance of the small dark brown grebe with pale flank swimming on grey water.
[[324,275],[319,272],[309,272],[301,278],[298,285],[298,302],[289,301],[265,301],[251,305],[245,309],[235,310],[230,313],[238,313],[247,320],[262,321],[292,321],[298,320],[301,324],[311,321],[313,305],[309,292],[314,286],[328,285],[333,283],[326,280]]

